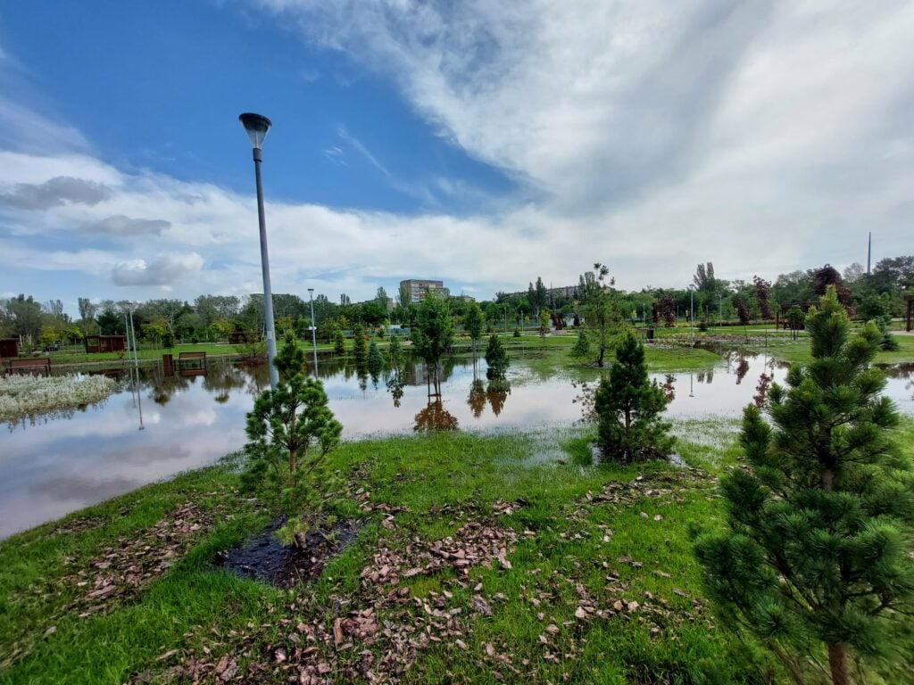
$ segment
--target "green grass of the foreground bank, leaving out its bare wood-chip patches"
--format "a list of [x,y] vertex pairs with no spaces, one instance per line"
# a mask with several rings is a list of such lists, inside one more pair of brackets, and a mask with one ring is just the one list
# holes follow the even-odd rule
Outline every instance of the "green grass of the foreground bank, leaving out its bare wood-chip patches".
[[[732,442],[727,431],[721,433],[725,435]],[[345,617],[353,606],[371,606],[360,591],[359,574],[379,538],[403,549],[416,540],[452,534],[469,520],[518,533],[520,540],[509,555],[512,568],[477,566],[466,579],[468,588],[483,585],[491,617],[471,612],[473,592],[454,585],[458,578],[450,569],[406,581],[417,597],[452,589],[449,606],[462,611],[467,645],[463,652],[449,639],[432,643],[420,651],[406,682],[441,682],[445,673],[456,682],[491,681],[493,669],[516,682],[764,681],[770,661],[716,627],[708,613],[686,534],[690,522],[719,517],[719,501],[709,497],[712,477],[735,463],[732,448],[696,442],[686,458],[705,471],[659,463],[620,468],[590,465],[587,439],[585,429],[569,428],[558,435],[453,434],[345,444],[332,454],[335,468],[370,491],[373,504],[404,511],[396,515],[393,531],[377,525],[377,515],[368,515],[370,525],[358,541],[307,592],[283,592],[212,567],[218,550],[256,532],[266,520],[254,504],[239,500],[237,476],[229,465],[148,486],[65,520],[70,525],[98,523],[86,530],[55,533],[56,522],[16,535],[0,543],[0,682],[119,683],[140,673],[163,679],[176,659],[193,656],[215,663],[223,654],[249,668],[263,658],[266,645],[284,644],[288,628],[282,628],[283,620],[328,623],[335,611]],[[625,504],[587,500],[587,493],[600,493],[609,481],[628,483],[639,475],[668,493],[639,494]],[[80,618],[79,609],[68,608],[80,596],[69,574],[185,501],[231,511],[232,518],[220,515],[215,528],[195,540],[183,559],[136,595],[112,600],[109,610]],[[524,506],[497,516],[494,501],[523,501]],[[447,506],[451,509],[442,511]],[[662,520],[654,521],[658,514]],[[606,528],[613,531],[608,543],[603,541]],[[643,566],[618,561],[625,556]],[[610,574],[617,580],[608,581]],[[574,616],[576,584],[597,606],[620,599],[660,612],[580,621]],[[295,597],[310,593],[312,601],[289,609]],[[341,599],[352,606],[335,610]],[[408,610],[421,613],[413,605]],[[548,638],[553,652],[573,657],[545,659],[539,636],[548,624],[559,627]],[[49,627],[55,630],[48,633]],[[488,645],[513,655],[515,668],[524,675],[501,668],[487,656]],[[159,659],[172,649],[178,652]],[[335,668],[342,668],[340,659],[348,659],[334,655],[333,648],[326,653],[322,648],[322,654],[336,659]],[[524,658],[530,659],[526,666]]]

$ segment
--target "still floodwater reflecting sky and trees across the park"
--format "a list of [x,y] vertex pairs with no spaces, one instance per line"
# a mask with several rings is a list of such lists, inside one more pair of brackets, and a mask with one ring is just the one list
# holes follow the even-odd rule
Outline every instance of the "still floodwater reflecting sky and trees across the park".
[[[491,431],[568,425],[581,416],[574,402],[581,380],[596,372],[541,373],[536,359],[513,359],[506,384],[485,378],[469,358],[442,365],[441,399],[430,401],[422,364],[403,374],[403,394],[388,391],[389,374],[356,373],[325,358],[318,375],[344,437],[444,428]],[[266,368],[216,360],[206,371],[166,377],[140,370],[139,392],[127,372],[112,372],[119,390],[98,406],[39,416],[0,428],[0,537],[134,490],[179,471],[210,464],[244,445],[244,418],[269,385]],[[731,353],[700,372],[653,374],[674,418],[739,416],[771,379],[786,370],[758,355]],[[887,395],[914,415],[914,364],[887,369]]]

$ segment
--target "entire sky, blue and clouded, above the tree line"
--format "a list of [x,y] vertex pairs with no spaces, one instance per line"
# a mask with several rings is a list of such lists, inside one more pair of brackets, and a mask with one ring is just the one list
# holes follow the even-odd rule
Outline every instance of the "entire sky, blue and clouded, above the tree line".
[[914,251],[914,3],[0,9],[0,296],[490,298]]

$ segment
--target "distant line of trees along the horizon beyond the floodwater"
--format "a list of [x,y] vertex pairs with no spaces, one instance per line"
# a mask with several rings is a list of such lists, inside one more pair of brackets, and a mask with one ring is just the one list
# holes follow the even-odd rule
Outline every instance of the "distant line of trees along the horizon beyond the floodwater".
[[[589,342],[605,351],[611,344],[605,334],[611,320],[674,325],[677,320],[687,320],[690,300],[699,322],[771,320],[793,303],[817,300],[830,285],[852,316],[865,320],[900,316],[904,294],[914,291],[914,256],[881,259],[869,274],[856,263],[843,274],[826,264],[783,273],[773,282],[757,275],[749,280],[720,279],[714,264],[707,262],[697,265],[691,289],[616,290],[606,270],[598,267],[583,273],[570,288],[547,288],[542,277],[537,277],[529,282],[526,293],[499,292],[494,300],[479,303],[462,298],[447,301],[455,330],[472,332],[473,341],[480,340],[483,333],[500,331],[532,329],[544,333],[550,323],[579,324],[590,315],[591,323],[597,323],[603,335],[598,331]],[[306,298],[275,294],[273,310],[277,335],[287,331],[301,338],[310,335],[311,307]],[[258,293],[245,297],[200,295],[193,302],[93,302],[80,298],[77,319],[64,312],[61,300],[41,302],[22,294],[0,300],[0,337],[21,337],[28,344],[47,347],[80,342],[91,333],[123,334],[126,311],[133,311],[141,340],[164,346],[225,341],[232,332],[257,337],[263,326],[263,297]],[[356,326],[376,334],[383,334],[388,323],[409,328],[416,323],[419,311],[409,291],[403,289],[390,298],[384,288],[378,288],[374,298],[362,302],[353,302],[345,293],[338,300],[324,294],[314,297],[314,324],[322,342],[338,342],[343,332],[351,335]]]

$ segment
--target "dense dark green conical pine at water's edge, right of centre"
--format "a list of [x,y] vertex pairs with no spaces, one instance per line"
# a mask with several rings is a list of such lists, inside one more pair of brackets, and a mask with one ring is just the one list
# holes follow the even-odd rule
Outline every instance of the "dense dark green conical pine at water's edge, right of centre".
[[604,458],[635,461],[664,457],[673,448],[664,391],[647,377],[644,346],[632,331],[622,334],[609,377],[594,395],[600,449]]

